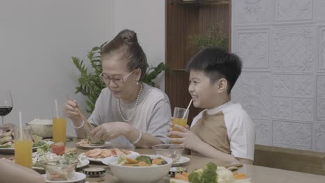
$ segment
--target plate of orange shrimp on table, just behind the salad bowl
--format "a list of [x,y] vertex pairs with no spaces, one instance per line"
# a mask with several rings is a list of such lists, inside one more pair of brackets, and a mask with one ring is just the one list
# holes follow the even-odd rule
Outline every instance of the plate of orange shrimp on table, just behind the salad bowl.
[[103,160],[104,158],[113,157],[115,155],[139,155],[139,153],[131,150],[125,150],[119,148],[110,148],[110,149],[95,148],[92,150],[88,150],[87,152],[82,153],[79,156],[86,157],[91,162],[101,162],[101,160]]

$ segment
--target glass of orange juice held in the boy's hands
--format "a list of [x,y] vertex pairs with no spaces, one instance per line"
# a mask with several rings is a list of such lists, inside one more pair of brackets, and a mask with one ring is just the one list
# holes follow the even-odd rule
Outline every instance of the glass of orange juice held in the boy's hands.
[[[181,125],[184,128],[186,127],[186,124],[188,123],[188,112],[186,112],[185,108],[181,107],[175,107],[174,108],[174,115],[173,115],[173,125],[172,125],[172,131],[178,131],[180,132],[181,130],[178,130],[175,125]],[[185,115],[184,115],[185,114]],[[171,138],[179,138],[177,135],[171,135]]]

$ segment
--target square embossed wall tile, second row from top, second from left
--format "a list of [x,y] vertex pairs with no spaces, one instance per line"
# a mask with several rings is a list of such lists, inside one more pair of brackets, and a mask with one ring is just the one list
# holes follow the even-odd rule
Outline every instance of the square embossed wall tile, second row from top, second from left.
[[276,72],[313,72],[317,63],[316,28],[272,29],[272,61]]

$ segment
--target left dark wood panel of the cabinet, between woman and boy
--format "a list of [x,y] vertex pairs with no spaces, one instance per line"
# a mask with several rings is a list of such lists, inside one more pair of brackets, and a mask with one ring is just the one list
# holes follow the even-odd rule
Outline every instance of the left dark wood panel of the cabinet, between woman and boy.
[[[199,33],[199,7],[172,5],[166,1],[166,63],[172,72],[166,73],[166,93],[174,107],[187,107],[191,100],[188,93],[188,73],[185,68],[194,54],[190,51],[188,35]],[[198,112],[190,109],[189,122]]]

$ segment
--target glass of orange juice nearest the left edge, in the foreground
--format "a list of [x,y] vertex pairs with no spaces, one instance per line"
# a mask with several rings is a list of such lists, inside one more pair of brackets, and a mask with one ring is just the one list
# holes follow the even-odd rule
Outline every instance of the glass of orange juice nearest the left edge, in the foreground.
[[32,167],[33,133],[30,126],[15,128],[15,163]]

